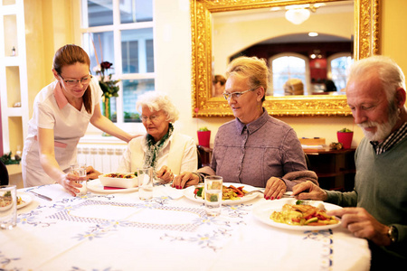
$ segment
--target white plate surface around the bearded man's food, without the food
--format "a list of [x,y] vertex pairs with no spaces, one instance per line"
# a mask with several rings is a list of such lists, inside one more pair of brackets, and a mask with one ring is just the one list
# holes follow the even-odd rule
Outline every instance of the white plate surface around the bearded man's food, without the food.
[[[280,229],[293,229],[293,230],[323,230],[334,229],[341,224],[341,221],[337,224],[324,225],[324,226],[299,226],[279,223],[270,219],[270,215],[273,211],[281,211],[284,204],[296,204],[296,199],[281,199],[275,201],[261,201],[253,206],[252,213],[254,217],[263,223]],[[323,201],[311,201],[310,205],[316,206],[322,203],[326,210],[336,210],[342,207],[335,204],[323,202]]]

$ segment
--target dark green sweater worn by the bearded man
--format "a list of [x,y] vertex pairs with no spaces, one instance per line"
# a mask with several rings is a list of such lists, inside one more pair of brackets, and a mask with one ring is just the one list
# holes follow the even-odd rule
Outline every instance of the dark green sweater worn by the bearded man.
[[363,139],[355,153],[353,192],[327,192],[328,202],[343,207],[362,207],[376,220],[393,225],[398,243],[387,249],[407,257],[407,137],[383,154]]

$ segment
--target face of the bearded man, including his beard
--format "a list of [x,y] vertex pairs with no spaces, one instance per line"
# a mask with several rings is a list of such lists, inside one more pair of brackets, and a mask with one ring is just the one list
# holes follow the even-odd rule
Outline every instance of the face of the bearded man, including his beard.
[[355,124],[364,131],[371,141],[383,141],[393,132],[397,122],[397,106],[386,98],[384,89],[377,78],[358,78],[346,87],[346,98]]

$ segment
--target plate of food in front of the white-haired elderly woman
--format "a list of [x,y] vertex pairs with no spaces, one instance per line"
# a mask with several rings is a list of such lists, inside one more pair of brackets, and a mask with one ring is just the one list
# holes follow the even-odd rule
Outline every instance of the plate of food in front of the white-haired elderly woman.
[[117,193],[138,191],[137,176],[134,173],[107,173],[99,179],[86,183],[93,192]]

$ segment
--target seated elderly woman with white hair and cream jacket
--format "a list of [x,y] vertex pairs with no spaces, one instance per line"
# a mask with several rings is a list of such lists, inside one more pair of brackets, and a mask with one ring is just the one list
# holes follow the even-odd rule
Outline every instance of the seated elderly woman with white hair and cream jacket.
[[171,182],[174,174],[194,172],[198,156],[194,139],[175,132],[173,123],[179,112],[168,96],[149,91],[137,99],[137,111],[147,135],[128,143],[118,165],[118,172],[131,173],[137,168],[152,166],[156,178]]

